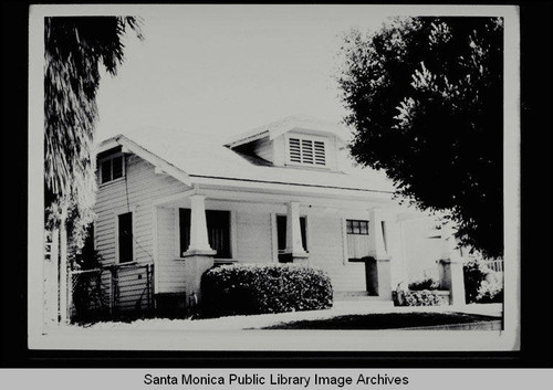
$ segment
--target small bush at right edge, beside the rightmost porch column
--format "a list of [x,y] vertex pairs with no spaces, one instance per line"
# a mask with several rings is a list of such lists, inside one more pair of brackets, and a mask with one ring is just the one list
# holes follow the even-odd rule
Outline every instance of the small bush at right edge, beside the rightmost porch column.
[[470,303],[503,302],[503,283],[494,272],[480,262],[470,262],[463,266],[465,297]]

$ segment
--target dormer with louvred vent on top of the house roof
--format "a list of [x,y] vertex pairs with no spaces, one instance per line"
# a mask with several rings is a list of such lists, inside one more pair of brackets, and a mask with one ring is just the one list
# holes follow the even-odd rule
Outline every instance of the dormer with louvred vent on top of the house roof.
[[335,124],[292,116],[230,139],[226,146],[260,164],[336,171],[347,131]]

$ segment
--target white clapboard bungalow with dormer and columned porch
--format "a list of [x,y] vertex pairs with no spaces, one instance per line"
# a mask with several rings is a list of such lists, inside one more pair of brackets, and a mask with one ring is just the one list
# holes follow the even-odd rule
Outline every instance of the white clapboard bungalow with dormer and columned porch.
[[289,117],[228,140],[152,129],[103,141],[94,242],[119,296],[136,299],[143,265],[161,303],[198,296],[213,264],[293,262],[325,270],[336,297],[390,299],[409,280],[406,242],[425,239],[409,220],[425,215],[393,199],[384,173],[352,168],[347,137]]

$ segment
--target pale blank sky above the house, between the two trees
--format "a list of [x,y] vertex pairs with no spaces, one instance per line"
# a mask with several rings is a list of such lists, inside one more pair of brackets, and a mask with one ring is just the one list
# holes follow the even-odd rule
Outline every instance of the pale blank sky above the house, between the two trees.
[[396,13],[369,6],[144,8],[144,41],[129,32],[117,76],[102,78],[96,140],[150,126],[228,137],[290,115],[340,123],[344,34]]

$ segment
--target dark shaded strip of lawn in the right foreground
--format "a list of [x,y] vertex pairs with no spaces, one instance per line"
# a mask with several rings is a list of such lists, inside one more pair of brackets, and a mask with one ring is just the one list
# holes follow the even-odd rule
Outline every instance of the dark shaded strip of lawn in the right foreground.
[[324,319],[282,323],[261,329],[395,329],[420,326],[469,324],[498,318],[463,313],[383,313],[344,315]]

